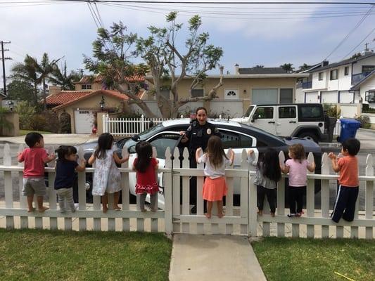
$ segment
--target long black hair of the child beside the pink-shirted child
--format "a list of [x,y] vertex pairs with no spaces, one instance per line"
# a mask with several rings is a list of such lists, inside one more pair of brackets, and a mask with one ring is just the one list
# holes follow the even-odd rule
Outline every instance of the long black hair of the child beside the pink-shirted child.
[[279,153],[276,150],[268,148],[265,153],[262,153],[257,166],[258,169],[262,169],[263,176],[266,178],[275,182],[281,180]]

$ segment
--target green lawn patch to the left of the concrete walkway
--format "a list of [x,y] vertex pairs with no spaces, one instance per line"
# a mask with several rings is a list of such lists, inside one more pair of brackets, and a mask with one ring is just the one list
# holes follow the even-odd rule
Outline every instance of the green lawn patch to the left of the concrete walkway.
[[161,233],[0,229],[0,280],[167,280]]

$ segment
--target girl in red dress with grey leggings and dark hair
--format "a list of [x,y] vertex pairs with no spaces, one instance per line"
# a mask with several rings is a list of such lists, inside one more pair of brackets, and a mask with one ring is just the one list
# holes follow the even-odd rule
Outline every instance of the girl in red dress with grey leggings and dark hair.
[[158,160],[153,158],[153,148],[150,143],[141,141],[136,144],[136,159],[134,159],[133,170],[136,171],[135,192],[139,195],[139,207],[144,209],[147,194],[150,195],[151,211],[158,211],[157,183]]

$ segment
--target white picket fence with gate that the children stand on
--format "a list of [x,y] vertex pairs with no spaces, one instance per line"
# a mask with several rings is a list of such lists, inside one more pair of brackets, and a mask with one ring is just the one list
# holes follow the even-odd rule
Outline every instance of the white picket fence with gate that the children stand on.
[[[20,150],[23,146],[20,146]],[[50,148],[52,150],[53,148]],[[125,153],[125,151],[124,151]],[[249,171],[246,162],[246,151],[241,155],[241,169],[227,169],[226,177],[229,186],[225,204],[225,216],[218,218],[212,216],[205,218],[203,214],[203,200],[201,198],[203,185],[203,167],[190,169],[187,159],[188,152],[184,151],[182,168],[179,168],[177,152],[174,152],[174,163],[170,149],[167,148],[165,168],[159,169],[163,172],[165,183],[164,210],[155,213],[143,213],[134,205],[129,204],[129,169],[128,164],[122,164],[120,168],[122,180],[122,210],[108,210],[106,214],[101,211],[100,197],[94,196],[94,203],[87,204],[86,191],[84,189],[84,172],[78,175],[79,207],[75,213],[67,212],[61,214],[56,204],[56,191],[48,190],[49,210],[40,214],[37,211],[27,212],[26,198],[20,196],[20,201],[13,200],[13,190],[22,190],[23,166],[12,166],[11,155],[8,145],[4,148],[4,164],[0,171],[4,172],[5,201],[0,201],[0,226],[3,228],[46,228],[63,230],[122,230],[122,231],[151,231],[172,233],[224,233],[228,235],[248,236],[293,236],[293,237],[361,237],[374,239],[374,166],[371,155],[367,156],[367,167],[365,176],[360,176],[364,181],[365,206],[364,210],[355,211],[355,220],[348,223],[341,220],[333,223],[329,216],[331,208],[329,204],[330,181],[336,181],[336,174],[329,174],[330,161],[326,154],[322,157],[322,174],[308,174],[307,178],[307,205],[305,214],[300,218],[288,218],[284,208],[284,181],[279,182],[277,188],[277,214],[272,217],[269,214],[258,216],[257,191],[253,184],[254,171]],[[83,151],[79,150],[82,157]],[[15,156],[15,155],[13,155]],[[284,153],[280,153],[280,160],[284,161]],[[312,161],[310,153],[308,157]],[[49,186],[53,186],[55,171],[53,167],[46,168],[49,173]],[[87,169],[92,173],[94,169]],[[190,214],[189,206],[189,178],[197,176],[197,214]],[[18,180],[18,185],[13,185],[13,179]],[[322,208],[314,209],[314,180],[322,181],[321,200]],[[181,180],[181,181],[180,181]],[[181,183],[181,184],[180,184]],[[239,207],[234,206],[234,185],[239,185],[241,190],[241,202]],[[362,192],[363,190],[361,190]],[[181,194],[182,192],[182,194]],[[180,203],[182,195],[182,204]],[[160,196],[160,195],[159,195]],[[113,198],[110,198],[113,200]],[[110,205],[110,204],[109,204]],[[215,204],[214,204],[215,207]],[[267,213],[267,204],[265,207]],[[1,218],[1,216],[4,216]]]

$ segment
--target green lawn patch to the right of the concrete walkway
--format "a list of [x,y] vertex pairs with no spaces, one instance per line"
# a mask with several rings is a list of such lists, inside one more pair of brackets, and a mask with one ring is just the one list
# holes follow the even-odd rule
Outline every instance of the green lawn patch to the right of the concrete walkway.
[[375,280],[375,240],[267,237],[252,245],[268,281]]

